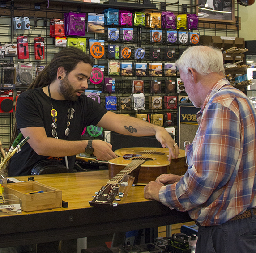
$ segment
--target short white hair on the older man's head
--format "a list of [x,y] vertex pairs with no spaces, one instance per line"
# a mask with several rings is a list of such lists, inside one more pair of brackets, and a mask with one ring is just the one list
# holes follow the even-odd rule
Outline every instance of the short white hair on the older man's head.
[[225,75],[223,54],[212,46],[190,46],[176,61],[176,65],[186,73],[190,67],[203,76],[213,72]]

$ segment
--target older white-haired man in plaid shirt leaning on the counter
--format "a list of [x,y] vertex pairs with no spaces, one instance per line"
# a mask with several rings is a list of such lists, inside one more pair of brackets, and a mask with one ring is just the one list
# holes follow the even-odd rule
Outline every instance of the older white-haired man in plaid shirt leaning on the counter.
[[220,50],[192,46],[176,63],[201,108],[199,127],[185,148],[185,175],[159,176],[145,186],[145,198],[188,211],[199,226],[196,253],[255,252],[256,111],[225,79]]

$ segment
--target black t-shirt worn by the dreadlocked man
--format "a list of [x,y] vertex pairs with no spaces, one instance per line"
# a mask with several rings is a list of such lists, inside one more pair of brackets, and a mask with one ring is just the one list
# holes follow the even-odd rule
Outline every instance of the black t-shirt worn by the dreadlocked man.
[[[90,97],[81,95],[76,102],[55,100],[48,97],[42,88],[31,89],[21,93],[17,100],[16,121],[17,128],[44,127],[47,137],[52,137],[51,101],[57,111],[57,136],[59,139],[80,140],[82,131],[86,126],[96,125],[107,112],[98,102]],[[75,109],[73,118],[68,120],[68,109]],[[65,136],[67,122],[70,122],[70,133]],[[19,130],[18,130],[19,131]],[[24,136],[25,138],[26,136]],[[9,176],[30,175],[34,164],[46,160],[48,156],[39,156],[28,143],[10,160]],[[65,165],[64,157],[60,157]],[[75,156],[68,156],[69,169],[73,169]]]

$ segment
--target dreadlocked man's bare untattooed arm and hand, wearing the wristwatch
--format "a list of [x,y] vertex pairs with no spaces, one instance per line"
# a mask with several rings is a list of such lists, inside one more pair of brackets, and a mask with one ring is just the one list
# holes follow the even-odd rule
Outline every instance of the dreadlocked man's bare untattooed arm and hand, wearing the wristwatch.
[[[24,136],[29,136],[28,143],[38,155],[42,156],[72,156],[85,152],[87,140],[67,141],[47,137],[43,127],[26,127],[20,129]],[[110,160],[117,156],[112,151],[112,145],[102,140],[93,140],[94,156],[100,160]]]

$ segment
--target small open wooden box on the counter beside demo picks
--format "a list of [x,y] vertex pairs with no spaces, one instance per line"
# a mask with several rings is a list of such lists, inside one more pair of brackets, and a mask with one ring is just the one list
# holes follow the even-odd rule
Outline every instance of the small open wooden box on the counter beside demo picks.
[[[25,212],[58,208],[62,206],[62,191],[35,181],[7,184],[5,194],[13,194],[21,199],[21,209]],[[32,193],[43,191],[42,193]]]

